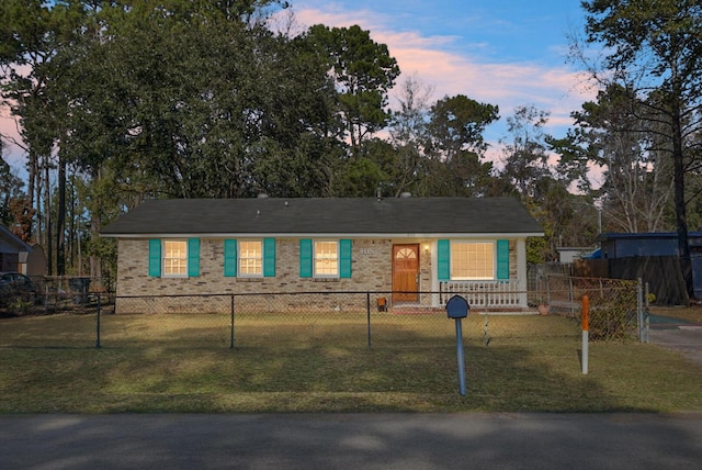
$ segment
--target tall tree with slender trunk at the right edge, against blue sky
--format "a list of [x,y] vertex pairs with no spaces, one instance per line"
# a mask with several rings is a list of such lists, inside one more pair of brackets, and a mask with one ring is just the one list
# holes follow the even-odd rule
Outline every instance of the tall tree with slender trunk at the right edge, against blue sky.
[[[686,170],[697,158],[702,120],[702,4],[693,0],[584,1],[587,42],[603,46],[603,74],[633,92],[642,120],[656,132],[671,160],[680,266],[692,295]],[[653,98],[653,99],[652,99]],[[657,141],[659,144],[660,141]]]

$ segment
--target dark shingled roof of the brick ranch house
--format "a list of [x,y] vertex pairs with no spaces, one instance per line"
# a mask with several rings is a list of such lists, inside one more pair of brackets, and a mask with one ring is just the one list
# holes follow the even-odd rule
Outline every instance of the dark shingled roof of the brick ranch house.
[[103,236],[543,235],[512,198],[172,199],[146,201]]

